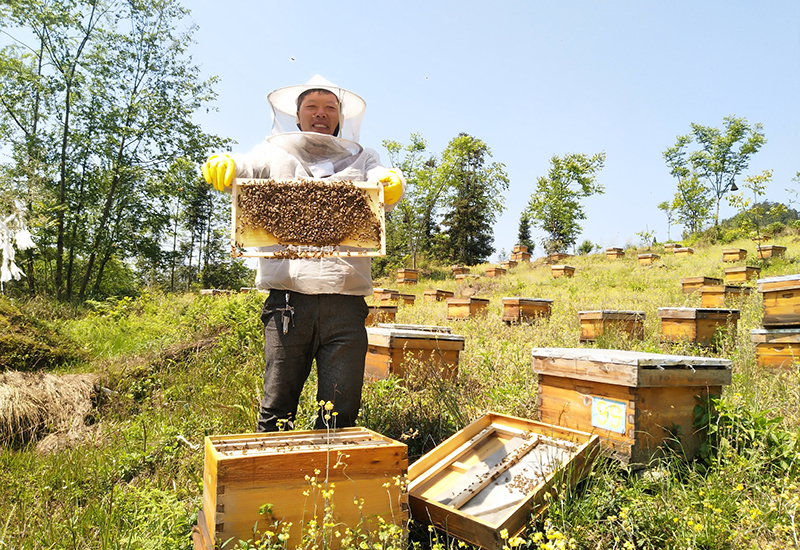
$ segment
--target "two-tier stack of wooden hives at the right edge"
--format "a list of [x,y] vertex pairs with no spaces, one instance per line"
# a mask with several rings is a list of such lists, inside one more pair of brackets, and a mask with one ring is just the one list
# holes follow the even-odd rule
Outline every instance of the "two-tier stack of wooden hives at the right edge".
[[759,279],[763,296],[763,328],[750,331],[756,345],[756,363],[788,367],[800,357],[800,274]]

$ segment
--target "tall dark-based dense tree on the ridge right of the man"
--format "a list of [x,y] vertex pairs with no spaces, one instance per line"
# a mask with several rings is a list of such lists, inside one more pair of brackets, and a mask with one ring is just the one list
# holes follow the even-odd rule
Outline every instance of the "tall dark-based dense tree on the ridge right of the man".
[[492,226],[505,208],[508,176],[505,165],[488,162],[491,156],[483,141],[461,133],[447,145],[434,172],[436,185],[446,189],[442,251],[460,264],[475,265],[494,252]]

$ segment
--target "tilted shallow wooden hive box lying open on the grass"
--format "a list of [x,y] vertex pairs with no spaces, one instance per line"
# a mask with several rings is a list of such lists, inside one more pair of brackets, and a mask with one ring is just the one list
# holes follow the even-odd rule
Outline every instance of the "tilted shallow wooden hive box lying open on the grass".
[[488,550],[501,550],[546,506],[546,493],[589,473],[599,438],[488,413],[409,467],[412,517]]

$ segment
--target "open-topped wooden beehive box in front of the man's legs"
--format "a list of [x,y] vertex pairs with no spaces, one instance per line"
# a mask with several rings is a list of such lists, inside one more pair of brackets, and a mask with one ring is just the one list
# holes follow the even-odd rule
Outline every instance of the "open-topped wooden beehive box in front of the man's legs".
[[[333,468],[337,461],[342,465]],[[259,514],[265,503],[275,519],[292,523],[289,540],[299,542],[310,520],[323,523],[321,491],[306,476],[322,482],[327,475],[328,488],[335,484],[330,499],[337,523],[356,529],[363,518],[376,529],[381,517],[405,528],[407,470],[406,445],[366,428],[207,436],[198,514],[203,547],[221,548],[232,538],[224,548],[238,548],[239,539],[253,537],[256,522],[262,532],[274,530]],[[363,499],[362,510],[356,498]]]

